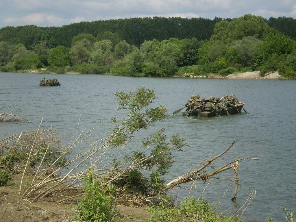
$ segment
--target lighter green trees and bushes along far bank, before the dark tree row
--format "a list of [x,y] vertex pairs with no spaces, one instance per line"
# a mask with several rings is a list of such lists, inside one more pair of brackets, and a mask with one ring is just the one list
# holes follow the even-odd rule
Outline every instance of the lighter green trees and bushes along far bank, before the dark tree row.
[[1,41],[0,70],[164,77],[249,71],[260,71],[264,76],[278,71],[282,77],[296,77],[296,41],[266,21],[250,14],[220,19],[208,39],[152,39],[140,46],[110,31],[96,36],[81,33],[72,38],[70,47],[55,46],[50,33],[43,31],[30,47]]

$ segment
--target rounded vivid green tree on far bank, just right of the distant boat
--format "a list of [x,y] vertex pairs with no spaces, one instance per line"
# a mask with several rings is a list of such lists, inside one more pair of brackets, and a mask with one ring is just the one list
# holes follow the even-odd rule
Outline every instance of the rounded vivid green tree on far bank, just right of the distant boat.
[[49,58],[50,65],[57,67],[70,65],[70,62],[73,59],[70,56],[69,49],[65,46],[57,46],[56,48],[52,48]]

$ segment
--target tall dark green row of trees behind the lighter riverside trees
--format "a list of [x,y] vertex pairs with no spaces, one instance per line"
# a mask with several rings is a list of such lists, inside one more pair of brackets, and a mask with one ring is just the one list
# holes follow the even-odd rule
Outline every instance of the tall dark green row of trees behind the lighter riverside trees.
[[[60,45],[70,47],[72,38],[78,34],[86,33],[96,37],[99,33],[110,31],[117,33],[128,44],[139,48],[145,40],[157,39],[163,41],[169,38],[209,39],[213,34],[215,23],[222,20],[221,17],[215,17],[213,20],[153,17],[79,22],[63,25],[62,27],[7,26],[0,29],[0,41],[6,41],[14,45],[21,43],[29,50],[32,50],[41,41],[46,42],[46,46],[49,48]],[[231,21],[232,19],[227,18],[224,20]],[[280,33],[295,40],[296,20],[294,18],[270,17],[268,20],[264,19],[264,21],[269,27],[275,28]]]

